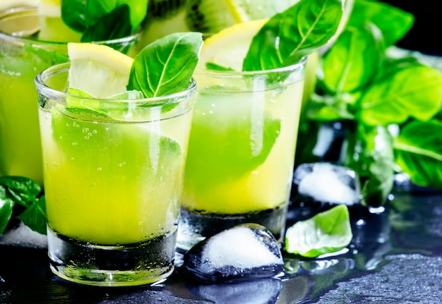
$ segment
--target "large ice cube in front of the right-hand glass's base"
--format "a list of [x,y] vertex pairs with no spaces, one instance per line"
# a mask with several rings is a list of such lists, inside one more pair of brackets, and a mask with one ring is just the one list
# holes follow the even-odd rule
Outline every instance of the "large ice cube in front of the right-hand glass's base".
[[184,255],[183,268],[208,282],[280,274],[283,260],[275,237],[259,224],[241,224],[206,238]]

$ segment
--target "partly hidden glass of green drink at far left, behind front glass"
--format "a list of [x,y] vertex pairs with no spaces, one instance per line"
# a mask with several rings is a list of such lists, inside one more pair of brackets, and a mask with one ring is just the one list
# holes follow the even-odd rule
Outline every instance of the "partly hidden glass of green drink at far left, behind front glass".
[[[26,176],[42,183],[34,78],[44,68],[68,61],[68,51],[67,41],[42,41],[39,31],[37,8],[0,12],[0,176]],[[130,55],[138,40],[137,34],[97,43]]]

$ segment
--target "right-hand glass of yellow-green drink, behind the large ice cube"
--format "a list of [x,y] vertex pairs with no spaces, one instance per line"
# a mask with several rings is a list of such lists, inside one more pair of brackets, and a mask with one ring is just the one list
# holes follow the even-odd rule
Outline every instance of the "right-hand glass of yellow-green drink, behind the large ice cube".
[[235,224],[285,229],[305,60],[273,71],[197,70],[179,246]]

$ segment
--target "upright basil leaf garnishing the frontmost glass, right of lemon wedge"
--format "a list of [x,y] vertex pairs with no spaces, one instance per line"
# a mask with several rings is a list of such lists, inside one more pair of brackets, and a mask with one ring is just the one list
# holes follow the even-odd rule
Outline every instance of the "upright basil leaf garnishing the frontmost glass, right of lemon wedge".
[[203,45],[199,32],[177,32],[144,47],[133,60],[127,90],[158,97],[189,87]]

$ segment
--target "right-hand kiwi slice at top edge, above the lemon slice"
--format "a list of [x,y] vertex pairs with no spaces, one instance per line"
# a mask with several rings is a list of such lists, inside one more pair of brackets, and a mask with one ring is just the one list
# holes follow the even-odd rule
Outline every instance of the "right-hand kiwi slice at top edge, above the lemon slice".
[[226,1],[187,0],[186,23],[191,30],[210,35],[237,21]]

